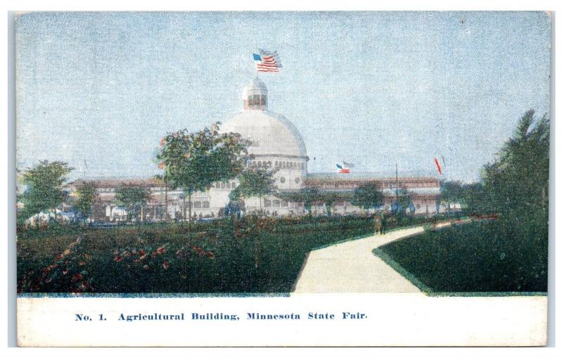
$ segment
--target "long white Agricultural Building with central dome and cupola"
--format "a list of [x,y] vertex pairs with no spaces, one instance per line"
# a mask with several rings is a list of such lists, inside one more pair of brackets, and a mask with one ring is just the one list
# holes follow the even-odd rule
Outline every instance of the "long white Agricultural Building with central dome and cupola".
[[[383,210],[389,210],[395,197],[396,188],[407,188],[415,206],[416,215],[432,215],[436,212],[436,199],[440,193],[440,182],[436,177],[417,177],[401,174],[396,178],[390,174],[377,173],[308,173],[309,157],[305,143],[296,127],[286,117],[268,110],[267,88],[258,77],[243,88],[243,110],[229,118],[221,132],[239,133],[251,141],[248,148],[249,167],[276,169],[274,175],[278,191],[299,191],[304,187],[319,191],[353,191],[362,184],[375,183],[386,194]],[[168,217],[185,220],[188,217],[188,203],[181,190],[168,190],[163,182],[156,179],[79,179],[68,184],[73,193],[76,188],[89,182],[96,186],[99,202],[96,203],[91,219],[94,221],[120,221],[127,219],[124,208],[115,203],[115,188],[120,184],[139,185],[151,191],[151,199],[143,208],[142,219],[160,221]],[[229,193],[238,181],[214,183],[205,192],[192,194],[192,216],[198,218],[219,217],[229,203]],[[292,203],[275,196],[262,198],[262,210],[270,215],[303,215],[303,203]],[[259,209],[258,198],[244,200],[247,213]],[[326,214],[324,203],[316,203],[313,211]],[[359,207],[349,202],[335,203],[332,212],[336,215],[359,213]]]

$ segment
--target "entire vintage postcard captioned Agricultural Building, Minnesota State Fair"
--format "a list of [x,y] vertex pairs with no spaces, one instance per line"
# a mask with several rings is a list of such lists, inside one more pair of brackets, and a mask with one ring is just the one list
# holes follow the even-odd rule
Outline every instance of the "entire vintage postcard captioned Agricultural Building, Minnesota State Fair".
[[545,345],[551,28],[18,13],[18,344]]

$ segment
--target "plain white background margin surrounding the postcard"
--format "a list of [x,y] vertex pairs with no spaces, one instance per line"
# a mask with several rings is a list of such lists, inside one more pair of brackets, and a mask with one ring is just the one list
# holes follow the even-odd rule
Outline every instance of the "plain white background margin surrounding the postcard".
[[[553,18],[553,49],[554,52],[552,54],[552,58],[553,58],[553,62],[552,62],[552,73],[554,75],[557,74],[556,69],[560,68],[560,60],[559,57],[556,56],[555,51],[557,51],[557,44],[558,41],[557,39],[562,38],[560,36],[560,30],[557,27],[557,23],[556,23],[556,17],[557,17],[557,13],[558,11],[562,8],[560,2],[558,1],[542,1],[542,0],[536,0],[536,1],[507,1],[507,2],[502,2],[502,3],[493,3],[492,1],[455,1],[455,2],[450,2],[450,1],[388,1],[388,2],[384,2],[383,4],[377,4],[377,3],[370,3],[367,1],[353,1],[353,0],[348,0],[348,1],[308,1],[308,2],[304,2],[304,1],[284,1],[283,3],[281,1],[277,1],[277,2],[272,2],[272,3],[267,3],[267,2],[260,2],[260,1],[237,1],[236,3],[233,3],[232,1],[215,1],[213,3],[205,3],[205,2],[198,2],[198,4],[181,4],[181,3],[177,3],[176,1],[168,1],[168,0],[160,0],[160,1],[145,1],[145,2],[140,2],[140,1],[131,1],[131,2],[122,2],[122,3],[118,3],[117,1],[113,0],[99,0],[99,1],[91,1],[91,2],[79,2],[79,1],[69,1],[69,0],[61,0],[61,1],[14,1],[14,0],[8,0],[5,1],[4,4],[6,4],[6,11],[8,10],[18,10],[18,11],[33,11],[33,10],[43,10],[43,11],[68,11],[68,10],[72,10],[72,11],[125,11],[125,10],[135,10],[135,11],[196,11],[196,10],[213,10],[213,11],[217,11],[217,10],[512,10],[512,11],[517,11],[517,10],[550,10],[550,11],[555,11],[555,13],[552,14],[552,18]],[[2,28],[2,32],[4,34],[4,36],[2,37],[2,41],[4,42],[4,49],[6,49],[8,46],[8,40],[9,41],[13,41],[13,37],[10,37],[8,35],[8,27],[7,27],[7,23],[8,23],[8,18],[10,17],[10,14],[6,14],[6,20],[3,20],[3,26]],[[4,21],[6,21],[6,23],[4,23]],[[8,53],[8,57],[11,56],[10,53]],[[13,56],[13,55],[12,55]],[[8,62],[7,58],[4,57],[2,58],[2,61],[4,63],[4,68],[7,69],[8,68]],[[8,83],[8,79],[10,79],[10,72],[3,72],[3,76],[5,79],[5,82]],[[552,132],[554,134],[554,140],[552,141],[552,181],[551,181],[551,194],[552,196],[555,197],[555,200],[552,200],[552,210],[551,210],[551,218],[550,218],[550,222],[552,223],[552,228],[550,230],[550,236],[551,238],[555,238],[557,236],[557,230],[556,230],[556,224],[557,224],[557,220],[555,219],[555,207],[557,205],[553,205],[555,203],[561,203],[561,198],[560,198],[560,194],[559,191],[555,190],[555,178],[557,177],[561,177],[561,173],[560,173],[560,169],[558,167],[555,167],[555,162],[556,159],[558,159],[559,157],[559,151],[558,151],[558,146],[557,146],[557,142],[558,139],[562,139],[561,136],[561,129],[559,127],[559,125],[557,125],[557,118],[556,118],[556,112],[555,112],[555,103],[559,102],[558,98],[557,98],[557,92],[555,91],[555,88],[557,87],[557,84],[561,83],[561,76],[556,76],[555,77],[555,84],[552,90]],[[9,84],[8,84],[9,85]],[[6,91],[6,97],[9,100],[9,96],[8,96],[9,92]],[[13,106],[11,105],[11,103],[8,105],[6,102],[4,103],[4,106],[6,106],[6,112],[4,113],[10,113],[10,110],[13,110]],[[13,115],[13,113],[12,113]],[[6,128],[6,127],[5,127]],[[9,128],[9,127],[8,127]],[[4,136],[4,143],[5,145],[3,146],[3,151],[6,151],[6,155],[2,155],[1,156],[1,160],[3,161],[2,164],[4,165],[4,168],[10,168],[10,165],[13,165],[13,128],[12,128],[12,132],[6,131],[4,132],[6,133]],[[8,144],[8,146],[6,146],[6,144]],[[8,170],[8,173],[10,171]],[[559,175],[558,175],[559,174]],[[6,200],[3,200],[4,203],[8,203],[8,198],[10,198],[10,196],[8,196],[8,184],[10,183],[10,181],[7,180],[6,177],[2,177],[2,181],[3,181],[3,190],[1,191],[2,193],[2,198],[6,198]],[[6,181],[6,182],[4,182]],[[10,203],[8,203],[8,205],[10,205]],[[8,228],[8,206],[4,206],[1,207],[1,211],[0,211],[0,220],[2,220],[2,227]],[[4,231],[6,232],[6,231]],[[553,242],[551,242],[553,243]],[[561,252],[561,247],[562,245],[551,245],[550,246],[550,259],[553,259],[555,257],[563,257],[562,252]],[[10,264],[10,262],[13,263],[13,260],[8,260],[8,255],[15,255],[15,252],[11,252],[10,250],[0,250],[1,252],[1,256],[0,256],[0,261],[2,262],[6,262],[8,264]],[[3,260],[2,260],[3,259]],[[546,356],[554,356],[554,355],[560,355],[562,352],[560,352],[560,348],[558,347],[559,345],[563,344],[563,340],[560,338],[560,333],[558,333],[555,330],[555,321],[561,321],[559,318],[561,316],[561,314],[559,312],[555,311],[555,300],[557,300],[556,296],[555,296],[555,276],[562,276],[561,274],[561,268],[560,265],[556,265],[555,261],[552,260],[550,262],[551,266],[551,271],[550,271],[550,341],[549,344],[552,347],[555,348],[543,348],[543,349],[536,349],[536,348],[530,348],[530,349],[505,349],[505,348],[501,348],[501,349],[481,349],[481,348],[477,348],[477,349],[393,349],[393,348],[380,348],[377,349],[377,354],[385,354],[385,356],[396,356],[397,354],[422,354],[423,356],[426,354],[431,354],[433,357],[434,356],[448,356],[450,357],[451,355],[455,354],[457,356],[460,357],[468,357],[469,354],[471,354],[471,356],[474,355],[482,355],[482,354],[494,354],[495,356],[499,356],[499,355],[509,355],[511,357],[529,357],[531,354],[533,355],[546,355]],[[13,274],[13,267],[10,267],[10,274]],[[554,275],[554,271],[555,271],[555,275]],[[8,267],[6,267],[6,265],[2,265],[2,277],[8,277]],[[6,282],[13,283],[14,280],[6,280]],[[1,286],[1,300],[2,303],[4,305],[4,307],[8,307],[8,302],[7,302],[7,297],[8,297],[8,290],[7,287],[2,285]],[[13,299],[13,296],[12,296]],[[10,309],[10,314],[8,314],[8,309],[3,309],[2,313],[1,313],[1,321],[6,322],[8,321],[8,326],[2,326],[1,328],[1,337],[3,339],[3,346],[6,347],[6,345],[10,344],[13,345],[14,341],[13,341],[13,332],[11,335],[11,342],[8,342],[6,339],[8,337],[7,334],[7,330],[8,328],[13,331],[13,305],[14,302],[10,302],[11,303],[11,309]],[[6,317],[7,319],[4,319],[5,315],[8,314],[8,317]],[[557,343],[559,343],[559,345],[557,345]],[[231,354],[260,354],[260,355],[264,355],[264,354],[268,354],[268,355],[281,355],[281,354],[295,354],[296,350],[279,350],[279,351],[274,351],[274,350],[264,350],[264,349],[258,349],[258,350],[234,350],[234,352],[230,351],[228,352],[229,355]],[[6,350],[7,354],[9,354],[8,356],[13,356],[14,354],[19,355],[27,355],[27,354],[44,354],[44,352],[38,352],[37,349],[33,349],[33,350],[28,350],[28,349],[9,349]],[[52,349],[49,350],[49,353],[52,354],[57,354],[58,356],[60,356],[61,354],[66,355],[66,354],[84,354],[86,356],[91,356],[91,355],[98,355],[98,354],[107,354],[107,349],[103,349],[103,350],[94,350],[94,349],[81,349],[80,351],[77,351],[75,349],[70,349],[70,350],[59,350],[59,349]],[[115,354],[115,352],[113,352]],[[167,352],[165,352],[165,354],[185,354],[186,352],[181,351],[181,350],[167,350]],[[217,354],[217,353],[227,353],[224,350],[213,350],[213,352],[211,350],[191,350],[192,354],[198,354],[198,355],[208,355],[208,354]],[[307,353],[307,352],[305,352]],[[339,356],[341,356],[342,354],[349,354],[349,353],[353,353],[353,354],[373,354],[374,352],[372,352],[372,350],[366,350],[366,349],[356,349],[356,350],[347,350],[347,352],[343,352],[343,350],[326,350],[323,349],[320,352],[323,355],[333,355],[333,354],[338,354]],[[125,351],[121,351],[120,354],[136,354],[136,355],[143,355],[143,354],[163,354],[162,352],[154,352],[153,350],[139,350],[139,349],[132,349],[129,350],[127,349],[127,352]]]

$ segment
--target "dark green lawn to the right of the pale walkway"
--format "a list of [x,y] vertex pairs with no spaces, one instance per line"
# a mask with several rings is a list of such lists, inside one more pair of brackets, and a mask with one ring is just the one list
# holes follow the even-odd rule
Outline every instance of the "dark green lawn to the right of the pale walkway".
[[407,278],[436,293],[548,288],[547,225],[521,236],[501,222],[475,222],[426,231],[379,250],[400,265],[398,271],[405,269]]

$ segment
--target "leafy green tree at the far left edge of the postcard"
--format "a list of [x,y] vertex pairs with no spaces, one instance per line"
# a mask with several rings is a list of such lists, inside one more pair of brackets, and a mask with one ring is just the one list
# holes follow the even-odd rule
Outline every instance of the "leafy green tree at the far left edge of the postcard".
[[27,219],[32,215],[39,215],[39,212],[44,210],[56,210],[66,198],[63,184],[71,171],[72,167],[65,162],[42,160],[38,165],[23,172],[22,183],[25,185],[25,191],[19,200],[24,206],[20,215]]

